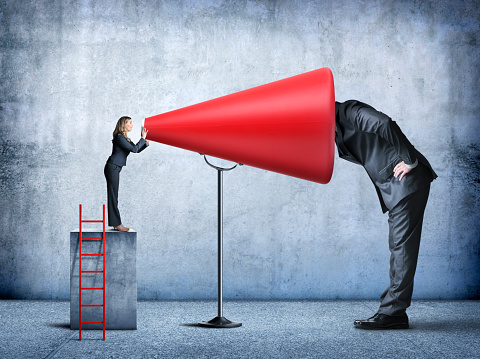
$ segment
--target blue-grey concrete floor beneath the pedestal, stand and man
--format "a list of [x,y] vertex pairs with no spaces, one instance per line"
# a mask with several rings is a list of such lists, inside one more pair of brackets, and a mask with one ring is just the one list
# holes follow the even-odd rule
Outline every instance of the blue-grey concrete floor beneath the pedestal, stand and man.
[[480,301],[415,301],[409,330],[364,331],[376,301],[142,301],[138,329],[70,330],[66,301],[0,300],[0,358],[480,358]]

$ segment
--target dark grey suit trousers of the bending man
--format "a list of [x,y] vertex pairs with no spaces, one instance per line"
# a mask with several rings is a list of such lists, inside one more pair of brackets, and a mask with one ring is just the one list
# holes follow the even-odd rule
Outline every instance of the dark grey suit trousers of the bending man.
[[410,306],[429,192],[430,185],[404,198],[388,213],[390,285],[380,297],[380,314],[403,315]]

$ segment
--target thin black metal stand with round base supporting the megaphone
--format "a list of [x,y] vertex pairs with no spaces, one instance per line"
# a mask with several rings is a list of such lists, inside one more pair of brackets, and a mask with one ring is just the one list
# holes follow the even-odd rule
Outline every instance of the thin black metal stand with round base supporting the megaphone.
[[198,323],[208,328],[236,328],[242,326],[240,322],[232,322],[223,316],[223,172],[231,171],[238,164],[230,168],[212,165],[204,155],[205,162],[217,170],[218,174],[218,315],[208,322]]

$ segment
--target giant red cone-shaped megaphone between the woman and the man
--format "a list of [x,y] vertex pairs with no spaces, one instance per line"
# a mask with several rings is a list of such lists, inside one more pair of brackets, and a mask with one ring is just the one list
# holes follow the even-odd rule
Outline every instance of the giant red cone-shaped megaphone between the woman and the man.
[[318,183],[333,171],[335,92],[321,68],[147,117],[147,139]]

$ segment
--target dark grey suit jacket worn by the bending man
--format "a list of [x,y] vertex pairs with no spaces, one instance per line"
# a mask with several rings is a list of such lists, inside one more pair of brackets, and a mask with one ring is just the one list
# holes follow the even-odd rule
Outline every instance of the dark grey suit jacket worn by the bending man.
[[[395,121],[373,107],[355,100],[335,102],[335,124],[339,156],[365,168],[384,213],[437,177]],[[413,165],[417,160],[401,181],[393,176],[398,163]]]

